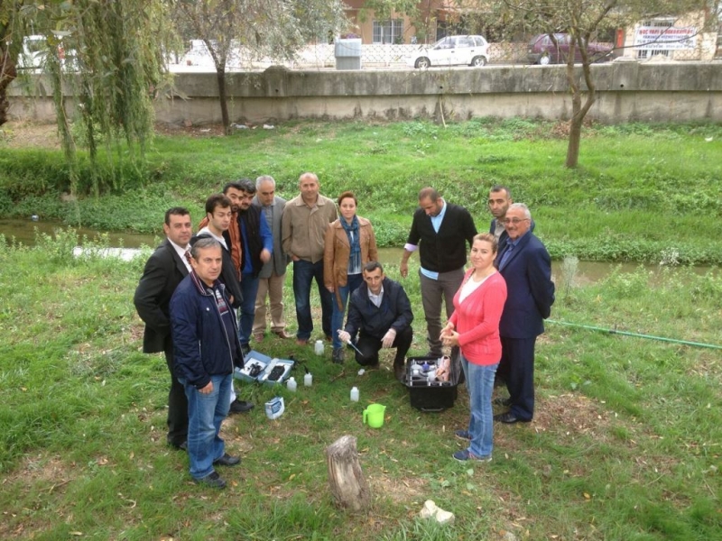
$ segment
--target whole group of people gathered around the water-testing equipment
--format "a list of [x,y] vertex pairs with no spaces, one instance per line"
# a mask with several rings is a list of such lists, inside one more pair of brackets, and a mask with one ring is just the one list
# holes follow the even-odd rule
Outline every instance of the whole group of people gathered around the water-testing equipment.
[[[267,175],[229,182],[208,197],[195,235],[187,209],[165,214],[166,241],[146,262],[134,304],[145,323],[143,351],[163,352],[171,371],[168,443],[188,451],[195,481],[222,488],[214,466],[240,463],[218,436],[229,413],[254,407],[236,398],[233,371],[243,366],[251,340],[266,338],[266,299],[272,334],[292,338],[282,303],[290,262],[296,343],[308,344],[313,332],[315,280],[332,361],[344,362],[346,344],[354,346],[356,362],[370,366],[378,365],[382,348],[396,348],[393,370],[403,379],[411,302],[377,261],[374,229],[356,214],[356,195],[345,191],[334,202],[319,188],[310,172],[290,201],[275,195]],[[532,234],[528,208],[513,204],[504,187],[492,188],[488,205],[495,216],[490,233],[477,234],[466,208],[423,188],[400,268],[407,278],[409,258],[419,252],[428,355],[440,357],[450,346],[466,375],[471,416],[457,436],[470,443],[454,454],[458,460],[491,458],[495,374],[510,393],[509,410],[495,419],[532,420],[534,342],[554,299],[549,254]],[[472,267],[465,272],[467,243]]]

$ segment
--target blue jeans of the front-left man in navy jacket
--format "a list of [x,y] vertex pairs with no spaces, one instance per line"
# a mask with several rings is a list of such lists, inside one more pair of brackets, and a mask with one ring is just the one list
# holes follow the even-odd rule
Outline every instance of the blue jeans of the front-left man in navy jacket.
[[202,479],[213,472],[213,462],[226,453],[226,446],[218,432],[228,415],[233,374],[211,376],[213,391],[208,394],[201,393],[185,380],[179,380],[188,397],[190,476]]

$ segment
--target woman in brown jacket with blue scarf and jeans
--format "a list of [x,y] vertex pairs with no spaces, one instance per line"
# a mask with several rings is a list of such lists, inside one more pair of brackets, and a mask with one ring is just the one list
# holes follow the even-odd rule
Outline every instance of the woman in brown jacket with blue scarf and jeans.
[[343,328],[349,295],[363,282],[362,269],[368,261],[377,261],[374,228],[366,218],[356,215],[358,200],[354,192],[338,196],[341,217],[326,230],[323,253],[323,280],[326,289],[334,293],[331,335],[333,362],[344,362],[343,344],[338,331]]

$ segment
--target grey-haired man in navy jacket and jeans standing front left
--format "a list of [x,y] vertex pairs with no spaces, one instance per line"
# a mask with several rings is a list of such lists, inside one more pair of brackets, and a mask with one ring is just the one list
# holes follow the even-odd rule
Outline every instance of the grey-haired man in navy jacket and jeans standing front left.
[[243,366],[236,317],[226,289],[218,280],[223,256],[213,238],[201,238],[190,249],[193,269],[171,298],[174,370],[188,398],[188,454],[194,481],[222,489],[215,464],[236,466],[218,436],[228,415],[234,366]]

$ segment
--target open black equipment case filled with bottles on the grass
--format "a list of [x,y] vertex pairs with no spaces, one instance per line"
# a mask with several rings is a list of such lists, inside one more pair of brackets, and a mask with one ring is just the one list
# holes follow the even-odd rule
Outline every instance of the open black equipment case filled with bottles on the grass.
[[[458,372],[461,367],[458,359],[449,362],[449,381],[429,381],[428,372],[438,368],[441,359],[437,357],[409,357],[406,359],[406,371],[403,384],[409,390],[412,408],[423,412],[439,412],[453,408],[457,399]],[[426,362],[429,370],[424,371],[421,366]],[[414,369],[420,369],[414,373]]]

